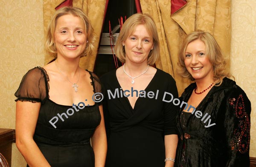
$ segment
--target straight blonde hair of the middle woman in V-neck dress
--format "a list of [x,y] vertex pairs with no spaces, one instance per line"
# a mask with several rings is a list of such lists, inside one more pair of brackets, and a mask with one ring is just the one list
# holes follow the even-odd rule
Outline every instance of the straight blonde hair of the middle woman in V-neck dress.
[[141,14],[141,13],[133,14],[131,17],[129,17],[125,21],[119,33],[119,37],[116,40],[116,46],[115,46],[116,57],[122,63],[125,63],[125,47],[122,45],[122,42],[124,42],[135,31],[138,25],[144,25],[149,35],[151,35],[153,38],[154,47],[149,52],[149,55],[148,55],[148,64],[153,65],[160,55],[160,46],[159,46],[159,38],[157,35],[157,27],[154,23],[154,20],[149,14]]

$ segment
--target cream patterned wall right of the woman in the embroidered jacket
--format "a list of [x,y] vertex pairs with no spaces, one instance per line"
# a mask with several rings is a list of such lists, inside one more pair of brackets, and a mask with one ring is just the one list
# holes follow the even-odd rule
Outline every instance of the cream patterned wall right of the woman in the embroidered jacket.
[[250,156],[256,157],[256,1],[232,0],[231,71],[251,101]]

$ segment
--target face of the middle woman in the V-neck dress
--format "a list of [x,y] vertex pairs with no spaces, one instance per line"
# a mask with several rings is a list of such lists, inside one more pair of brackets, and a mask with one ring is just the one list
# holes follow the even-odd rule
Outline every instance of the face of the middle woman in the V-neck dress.
[[125,63],[147,63],[154,42],[145,26],[140,24],[122,45],[125,46]]

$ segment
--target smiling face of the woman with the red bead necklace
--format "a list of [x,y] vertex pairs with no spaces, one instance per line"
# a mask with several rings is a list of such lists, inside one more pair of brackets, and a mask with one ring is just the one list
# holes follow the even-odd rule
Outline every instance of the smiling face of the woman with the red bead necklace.
[[186,48],[184,63],[189,74],[195,78],[195,81],[212,81],[213,66],[205,54],[205,44],[201,40],[190,42]]

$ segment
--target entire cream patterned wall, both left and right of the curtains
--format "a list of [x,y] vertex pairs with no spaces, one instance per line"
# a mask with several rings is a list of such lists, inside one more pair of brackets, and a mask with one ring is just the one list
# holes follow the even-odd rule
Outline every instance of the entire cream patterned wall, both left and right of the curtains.
[[[0,0],[0,128],[15,129],[15,96],[22,76],[44,65],[43,0]],[[256,1],[232,0],[231,69],[252,102],[250,156],[256,157]],[[12,167],[26,162],[12,145]]]

